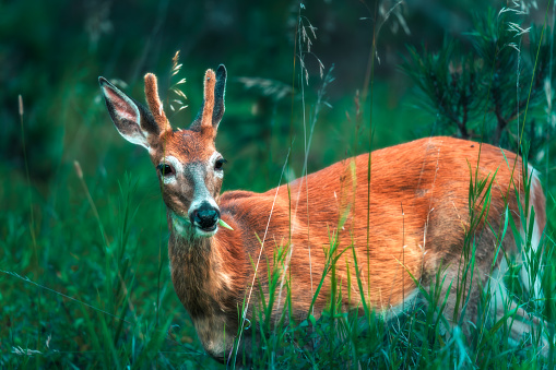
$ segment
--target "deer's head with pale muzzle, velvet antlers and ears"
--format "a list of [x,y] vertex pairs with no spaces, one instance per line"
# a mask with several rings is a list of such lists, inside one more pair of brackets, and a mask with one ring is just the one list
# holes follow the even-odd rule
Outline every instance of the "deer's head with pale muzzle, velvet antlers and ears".
[[184,237],[211,237],[217,231],[217,198],[226,160],[214,139],[224,114],[226,69],[209,70],[204,102],[188,130],[174,131],[158,98],[156,77],[145,75],[149,109],[99,77],[108,112],[118,132],[149,150],[156,167],[173,230]]

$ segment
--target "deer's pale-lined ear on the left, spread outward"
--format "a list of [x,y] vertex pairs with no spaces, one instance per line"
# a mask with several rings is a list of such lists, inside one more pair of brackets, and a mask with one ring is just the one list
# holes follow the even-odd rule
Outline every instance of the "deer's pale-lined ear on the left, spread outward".
[[139,103],[123,94],[104,77],[98,77],[106,108],[118,132],[130,143],[150,148],[158,139],[153,116]]

